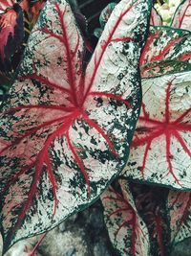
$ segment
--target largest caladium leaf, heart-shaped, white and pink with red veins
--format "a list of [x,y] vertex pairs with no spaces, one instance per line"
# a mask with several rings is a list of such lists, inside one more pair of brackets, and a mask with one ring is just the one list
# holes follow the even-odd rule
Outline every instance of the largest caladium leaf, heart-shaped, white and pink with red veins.
[[140,108],[150,5],[117,5],[84,72],[69,4],[47,1],[1,114],[4,251],[86,207],[123,169]]

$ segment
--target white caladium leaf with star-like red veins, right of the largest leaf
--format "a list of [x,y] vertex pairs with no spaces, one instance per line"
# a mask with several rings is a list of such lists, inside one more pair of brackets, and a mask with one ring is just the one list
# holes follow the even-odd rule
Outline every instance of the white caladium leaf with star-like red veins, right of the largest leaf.
[[191,72],[142,81],[143,99],[124,175],[191,189]]

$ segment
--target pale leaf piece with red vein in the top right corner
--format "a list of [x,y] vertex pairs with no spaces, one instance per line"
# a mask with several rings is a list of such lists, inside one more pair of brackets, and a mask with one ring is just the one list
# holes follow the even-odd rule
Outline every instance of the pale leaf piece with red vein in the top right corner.
[[191,0],[184,0],[180,3],[171,26],[191,31]]

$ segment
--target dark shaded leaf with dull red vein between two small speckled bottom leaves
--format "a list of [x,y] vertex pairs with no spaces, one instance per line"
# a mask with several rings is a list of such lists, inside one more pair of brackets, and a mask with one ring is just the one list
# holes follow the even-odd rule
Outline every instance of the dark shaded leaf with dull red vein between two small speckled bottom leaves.
[[143,184],[130,184],[138,213],[145,222],[150,236],[151,255],[170,254],[169,232],[165,211],[168,190]]

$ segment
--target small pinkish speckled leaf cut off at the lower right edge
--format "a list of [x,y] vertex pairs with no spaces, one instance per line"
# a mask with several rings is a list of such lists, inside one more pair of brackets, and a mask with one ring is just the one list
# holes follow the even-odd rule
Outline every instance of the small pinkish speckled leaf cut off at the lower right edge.
[[191,194],[170,191],[167,200],[171,246],[191,237]]

